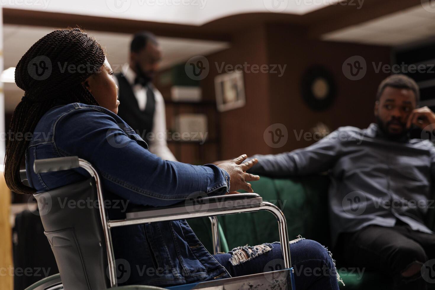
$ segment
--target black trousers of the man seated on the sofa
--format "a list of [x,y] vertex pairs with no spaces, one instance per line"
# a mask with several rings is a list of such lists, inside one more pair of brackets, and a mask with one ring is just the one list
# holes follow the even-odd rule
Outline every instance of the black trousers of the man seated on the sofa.
[[[341,233],[335,253],[348,266],[388,275],[394,289],[435,286],[435,235],[412,230],[400,221],[394,227],[371,225],[354,233]],[[415,264],[423,265],[422,271],[404,277],[402,273]]]

